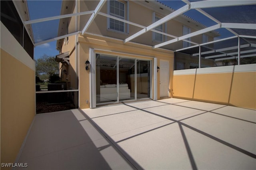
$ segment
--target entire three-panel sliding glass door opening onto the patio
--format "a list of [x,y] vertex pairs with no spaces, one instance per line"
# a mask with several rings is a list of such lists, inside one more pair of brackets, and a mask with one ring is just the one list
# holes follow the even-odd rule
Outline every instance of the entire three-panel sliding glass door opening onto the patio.
[[150,61],[96,54],[96,104],[150,98]]

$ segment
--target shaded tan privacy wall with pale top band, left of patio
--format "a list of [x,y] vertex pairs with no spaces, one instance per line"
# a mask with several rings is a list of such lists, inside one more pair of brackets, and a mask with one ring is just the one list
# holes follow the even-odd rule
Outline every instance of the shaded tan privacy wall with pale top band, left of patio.
[[0,68],[1,163],[13,163],[35,115],[35,63],[2,22]]

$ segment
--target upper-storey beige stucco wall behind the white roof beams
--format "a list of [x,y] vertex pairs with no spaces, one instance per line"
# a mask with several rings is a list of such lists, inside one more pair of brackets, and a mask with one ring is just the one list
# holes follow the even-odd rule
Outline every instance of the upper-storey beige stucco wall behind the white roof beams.
[[[80,1],[79,2],[79,7],[80,7],[79,12],[94,10],[95,7],[97,6],[97,4],[98,4],[98,1]],[[100,12],[107,14],[107,5],[108,5],[108,3],[106,2],[103,5]],[[158,7],[156,7],[156,8],[158,8]],[[129,1],[129,21],[130,22],[134,22],[134,23],[140,24],[142,26],[149,26],[153,22],[152,16],[153,16],[154,12],[155,11],[150,8],[141,6],[140,4],[138,4],[134,1]],[[156,15],[164,17],[163,14],[156,13]],[[79,23],[80,23],[79,29],[83,30],[86,22],[90,18],[90,15],[82,15],[82,16],[79,16],[79,18],[80,18],[79,19]],[[127,16],[126,16],[126,18],[127,18]],[[167,30],[164,30],[164,32],[166,32],[167,34],[173,35],[173,36],[180,37],[183,34],[183,26],[187,26],[187,27],[191,28],[191,32],[195,32],[197,30],[202,29],[202,26],[199,23],[194,23],[192,21],[187,22],[188,20],[190,20],[190,19],[183,17],[182,21],[184,23],[179,22],[179,19],[170,20],[170,21],[166,22]],[[73,28],[73,30],[74,30],[74,28]],[[124,40],[140,30],[142,30],[142,28],[133,26],[131,24],[129,25],[128,33],[120,33],[120,32],[116,32],[114,30],[110,30],[107,28],[107,18],[105,16],[97,15],[86,32]],[[146,45],[156,45],[156,44],[161,43],[161,42],[153,41],[152,35],[153,35],[152,32],[149,31],[149,32],[146,32],[146,33],[140,35],[137,38],[134,38],[131,41],[136,42],[136,43],[146,44]],[[171,39],[173,39],[173,38],[167,37],[167,40],[171,40]],[[202,35],[194,36],[191,38],[191,40],[192,40],[192,42],[194,41],[196,43],[202,43]],[[213,40],[213,38],[209,34],[209,41],[211,41],[211,40]],[[172,43],[170,45],[166,45],[163,48],[165,48],[165,49],[180,49],[180,48],[182,48],[182,41]]]

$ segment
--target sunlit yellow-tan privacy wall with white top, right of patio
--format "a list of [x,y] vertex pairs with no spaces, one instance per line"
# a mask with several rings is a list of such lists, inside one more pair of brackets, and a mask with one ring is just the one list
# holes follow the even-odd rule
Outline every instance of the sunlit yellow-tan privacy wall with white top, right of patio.
[[176,70],[173,96],[256,109],[256,64]]

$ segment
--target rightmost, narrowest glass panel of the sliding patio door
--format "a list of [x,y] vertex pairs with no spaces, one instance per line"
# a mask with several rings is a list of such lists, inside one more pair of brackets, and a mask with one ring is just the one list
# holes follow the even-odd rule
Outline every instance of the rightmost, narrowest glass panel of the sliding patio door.
[[137,99],[150,98],[150,61],[137,60]]

